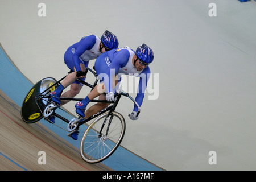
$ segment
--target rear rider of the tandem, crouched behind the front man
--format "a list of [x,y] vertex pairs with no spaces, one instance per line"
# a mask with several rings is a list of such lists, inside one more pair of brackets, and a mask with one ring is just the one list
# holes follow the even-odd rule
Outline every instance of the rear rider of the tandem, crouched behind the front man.
[[[106,30],[102,34],[101,39],[96,35],[84,36],[79,42],[70,46],[64,54],[64,61],[68,68],[71,69],[71,73],[69,73],[60,86],[50,94],[51,101],[58,105],[64,105],[68,101],[60,101],[60,96],[73,98],[79,94],[83,84],[76,81],[76,79],[80,78],[83,81],[85,80],[85,68],[88,67],[89,60],[96,59],[106,51],[116,49],[118,44],[117,37],[112,34],[112,32]],[[71,85],[70,90],[61,95],[63,90],[69,85]],[[53,123],[55,122],[54,117],[49,117],[48,119]]]

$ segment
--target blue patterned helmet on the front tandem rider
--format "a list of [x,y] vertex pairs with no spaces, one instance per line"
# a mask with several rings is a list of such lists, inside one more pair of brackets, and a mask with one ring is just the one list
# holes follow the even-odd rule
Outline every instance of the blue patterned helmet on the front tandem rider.
[[154,59],[154,52],[146,44],[142,44],[136,49],[137,57],[144,63],[150,64]]

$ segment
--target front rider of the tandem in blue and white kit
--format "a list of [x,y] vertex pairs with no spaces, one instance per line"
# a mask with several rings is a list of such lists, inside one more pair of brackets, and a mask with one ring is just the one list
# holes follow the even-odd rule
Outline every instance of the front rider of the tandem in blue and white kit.
[[[97,96],[100,96],[100,100],[114,101],[115,86],[119,82],[119,80],[115,80],[115,76],[118,73],[133,75],[140,78],[135,101],[141,106],[147,81],[150,76],[150,68],[148,65],[152,63],[153,59],[154,53],[146,44],[139,46],[136,51],[133,51],[129,47],[124,47],[102,53],[95,62],[96,73],[101,78],[101,82],[84,100],[77,102],[75,105],[76,113],[80,117],[85,117],[86,115],[86,118],[88,118],[109,105],[108,103],[98,102],[85,112],[85,108],[90,100],[93,100]],[[104,92],[106,94],[104,94]],[[134,105],[133,112],[130,114],[130,119],[138,119],[137,111],[138,107]]]

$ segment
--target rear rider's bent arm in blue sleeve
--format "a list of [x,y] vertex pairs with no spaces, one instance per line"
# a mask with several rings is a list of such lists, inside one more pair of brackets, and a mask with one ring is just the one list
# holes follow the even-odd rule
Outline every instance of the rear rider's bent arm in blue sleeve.
[[79,47],[76,48],[76,52],[73,54],[73,62],[76,68],[76,71],[81,71],[79,57],[86,51],[93,48],[96,43],[96,36],[90,35],[82,40],[82,43]]

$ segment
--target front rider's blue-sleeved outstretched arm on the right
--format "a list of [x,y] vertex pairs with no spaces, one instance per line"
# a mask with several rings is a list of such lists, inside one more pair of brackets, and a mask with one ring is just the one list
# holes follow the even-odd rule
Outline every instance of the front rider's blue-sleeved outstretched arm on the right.
[[[143,70],[143,72],[139,75],[139,85],[138,85],[138,93],[135,97],[135,101],[138,103],[138,105],[141,107],[143,99],[144,99],[144,93],[147,88],[147,81],[150,78],[150,68],[147,67]],[[138,111],[137,105],[134,104],[133,111]]]

